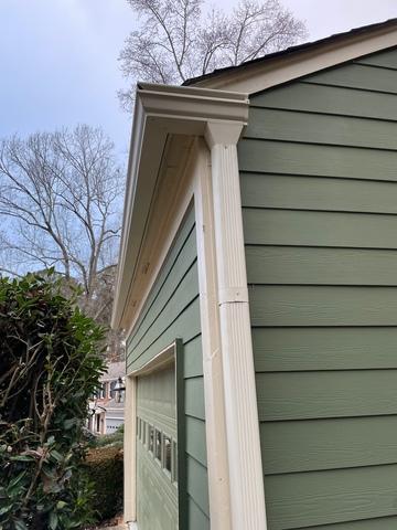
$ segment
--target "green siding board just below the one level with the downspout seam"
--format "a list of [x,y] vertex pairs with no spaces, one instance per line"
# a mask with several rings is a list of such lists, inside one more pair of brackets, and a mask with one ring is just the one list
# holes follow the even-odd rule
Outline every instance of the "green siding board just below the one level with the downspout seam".
[[254,328],[257,372],[397,368],[397,328]]

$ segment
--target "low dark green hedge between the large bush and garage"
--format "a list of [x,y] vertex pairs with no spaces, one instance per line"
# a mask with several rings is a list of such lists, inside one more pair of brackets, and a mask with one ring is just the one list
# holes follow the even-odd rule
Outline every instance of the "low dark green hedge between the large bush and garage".
[[94,508],[99,520],[110,519],[122,511],[122,449],[115,446],[92,448],[85,468],[94,485]]

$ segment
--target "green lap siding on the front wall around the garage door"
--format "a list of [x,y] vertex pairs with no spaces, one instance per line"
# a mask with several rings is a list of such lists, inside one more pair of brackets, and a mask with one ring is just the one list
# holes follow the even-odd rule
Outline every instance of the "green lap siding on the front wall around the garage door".
[[[185,475],[183,530],[210,528],[203,356],[194,210],[187,213],[127,341],[127,370],[143,367],[182,339]],[[179,372],[178,372],[179,373]],[[182,445],[182,444],[181,444]],[[181,448],[181,446],[180,446]],[[183,480],[182,480],[183,484]],[[183,496],[182,496],[183,498]],[[139,521],[138,521],[139,522]],[[182,523],[180,522],[180,528]]]

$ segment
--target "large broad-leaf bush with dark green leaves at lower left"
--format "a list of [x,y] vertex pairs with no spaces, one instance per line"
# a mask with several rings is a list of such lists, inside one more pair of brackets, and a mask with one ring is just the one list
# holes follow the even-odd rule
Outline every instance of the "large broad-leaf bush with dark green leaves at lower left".
[[56,280],[0,278],[0,530],[93,522],[83,427],[103,339]]

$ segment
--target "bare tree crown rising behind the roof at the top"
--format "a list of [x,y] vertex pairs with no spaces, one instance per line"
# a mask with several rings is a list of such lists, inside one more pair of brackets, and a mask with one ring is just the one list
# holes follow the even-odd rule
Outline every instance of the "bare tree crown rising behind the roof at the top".
[[[305,25],[279,0],[240,0],[230,14],[203,10],[204,0],[127,0],[140,25],[120,53],[135,82],[179,84],[223,66],[238,65],[296,44]],[[120,91],[126,109],[133,93]]]

